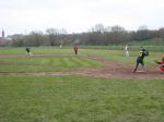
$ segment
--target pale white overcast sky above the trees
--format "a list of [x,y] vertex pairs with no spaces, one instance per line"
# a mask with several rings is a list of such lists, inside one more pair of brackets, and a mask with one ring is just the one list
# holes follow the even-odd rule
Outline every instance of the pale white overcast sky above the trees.
[[0,32],[5,35],[66,28],[87,32],[95,24],[136,30],[164,27],[164,0],[1,0]]

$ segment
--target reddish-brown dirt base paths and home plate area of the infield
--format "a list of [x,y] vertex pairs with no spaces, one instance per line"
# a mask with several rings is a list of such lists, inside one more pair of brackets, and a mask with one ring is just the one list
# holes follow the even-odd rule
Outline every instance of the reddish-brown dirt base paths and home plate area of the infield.
[[[94,77],[103,77],[103,78],[162,78],[164,80],[164,73],[161,72],[156,68],[147,68],[148,72],[137,72],[132,73],[133,65],[127,65],[121,62],[108,61],[103,58],[96,56],[86,56],[86,54],[35,54],[35,57],[84,57],[87,59],[92,59],[105,64],[105,68],[102,69],[77,69],[75,71],[70,72],[42,72],[42,73],[7,73],[0,72],[0,76],[55,76],[55,75],[85,75],[85,76],[94,76]],[[0,54],[0,58],[26,58],[24,54]],[[0,63],[2,64],[12,64],[12,65],[21,65],[17,63]],[[32,65],[32,64],[22,64],[22,65]],[[50,65],[33,65],[33,66],[50,66]]]

